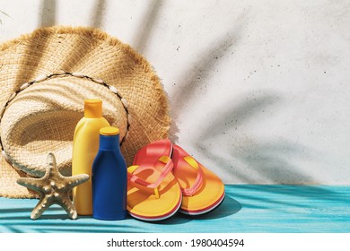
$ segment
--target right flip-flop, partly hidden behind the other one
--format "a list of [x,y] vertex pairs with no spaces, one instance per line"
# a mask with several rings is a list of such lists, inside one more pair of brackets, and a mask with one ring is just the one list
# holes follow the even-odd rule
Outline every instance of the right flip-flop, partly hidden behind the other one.
[[179,212],[199,215],[214,210],[224,198],[224,186],[220,177],[206,169],[179,145],[173,145],[171,159],[173,174],[182,191]]

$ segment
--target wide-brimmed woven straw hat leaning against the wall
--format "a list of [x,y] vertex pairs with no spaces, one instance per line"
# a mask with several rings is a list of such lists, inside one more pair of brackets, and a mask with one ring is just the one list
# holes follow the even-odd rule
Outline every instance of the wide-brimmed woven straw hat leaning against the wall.
[[44,28],[0,45],[0,86],[0,196],[35,197],[16,180],[41,177],[48,151],[71,175],[85,99],[102,100],[127,165],[142,146],[168,137],[168,100],[152,66],[101,30]]

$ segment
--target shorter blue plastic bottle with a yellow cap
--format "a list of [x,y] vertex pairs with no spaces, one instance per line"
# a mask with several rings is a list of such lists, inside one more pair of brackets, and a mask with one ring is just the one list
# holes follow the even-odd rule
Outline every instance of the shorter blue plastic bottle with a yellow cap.
[[100,130],[100,148],[92,165],[92,203],[95,219],[127,217],[127,163],[120,151],[117,127]]

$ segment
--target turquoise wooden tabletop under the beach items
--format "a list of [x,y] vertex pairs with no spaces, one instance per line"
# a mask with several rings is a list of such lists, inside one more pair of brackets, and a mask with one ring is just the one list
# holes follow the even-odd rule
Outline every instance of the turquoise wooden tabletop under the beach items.
[[155,223],[70,220],[57,205],[32,221],[38,200],[0,198],[0,232],[350,232],[350,186],[226,185],[225,191],[223,203],[213,212],[198,217],[177,213]]

